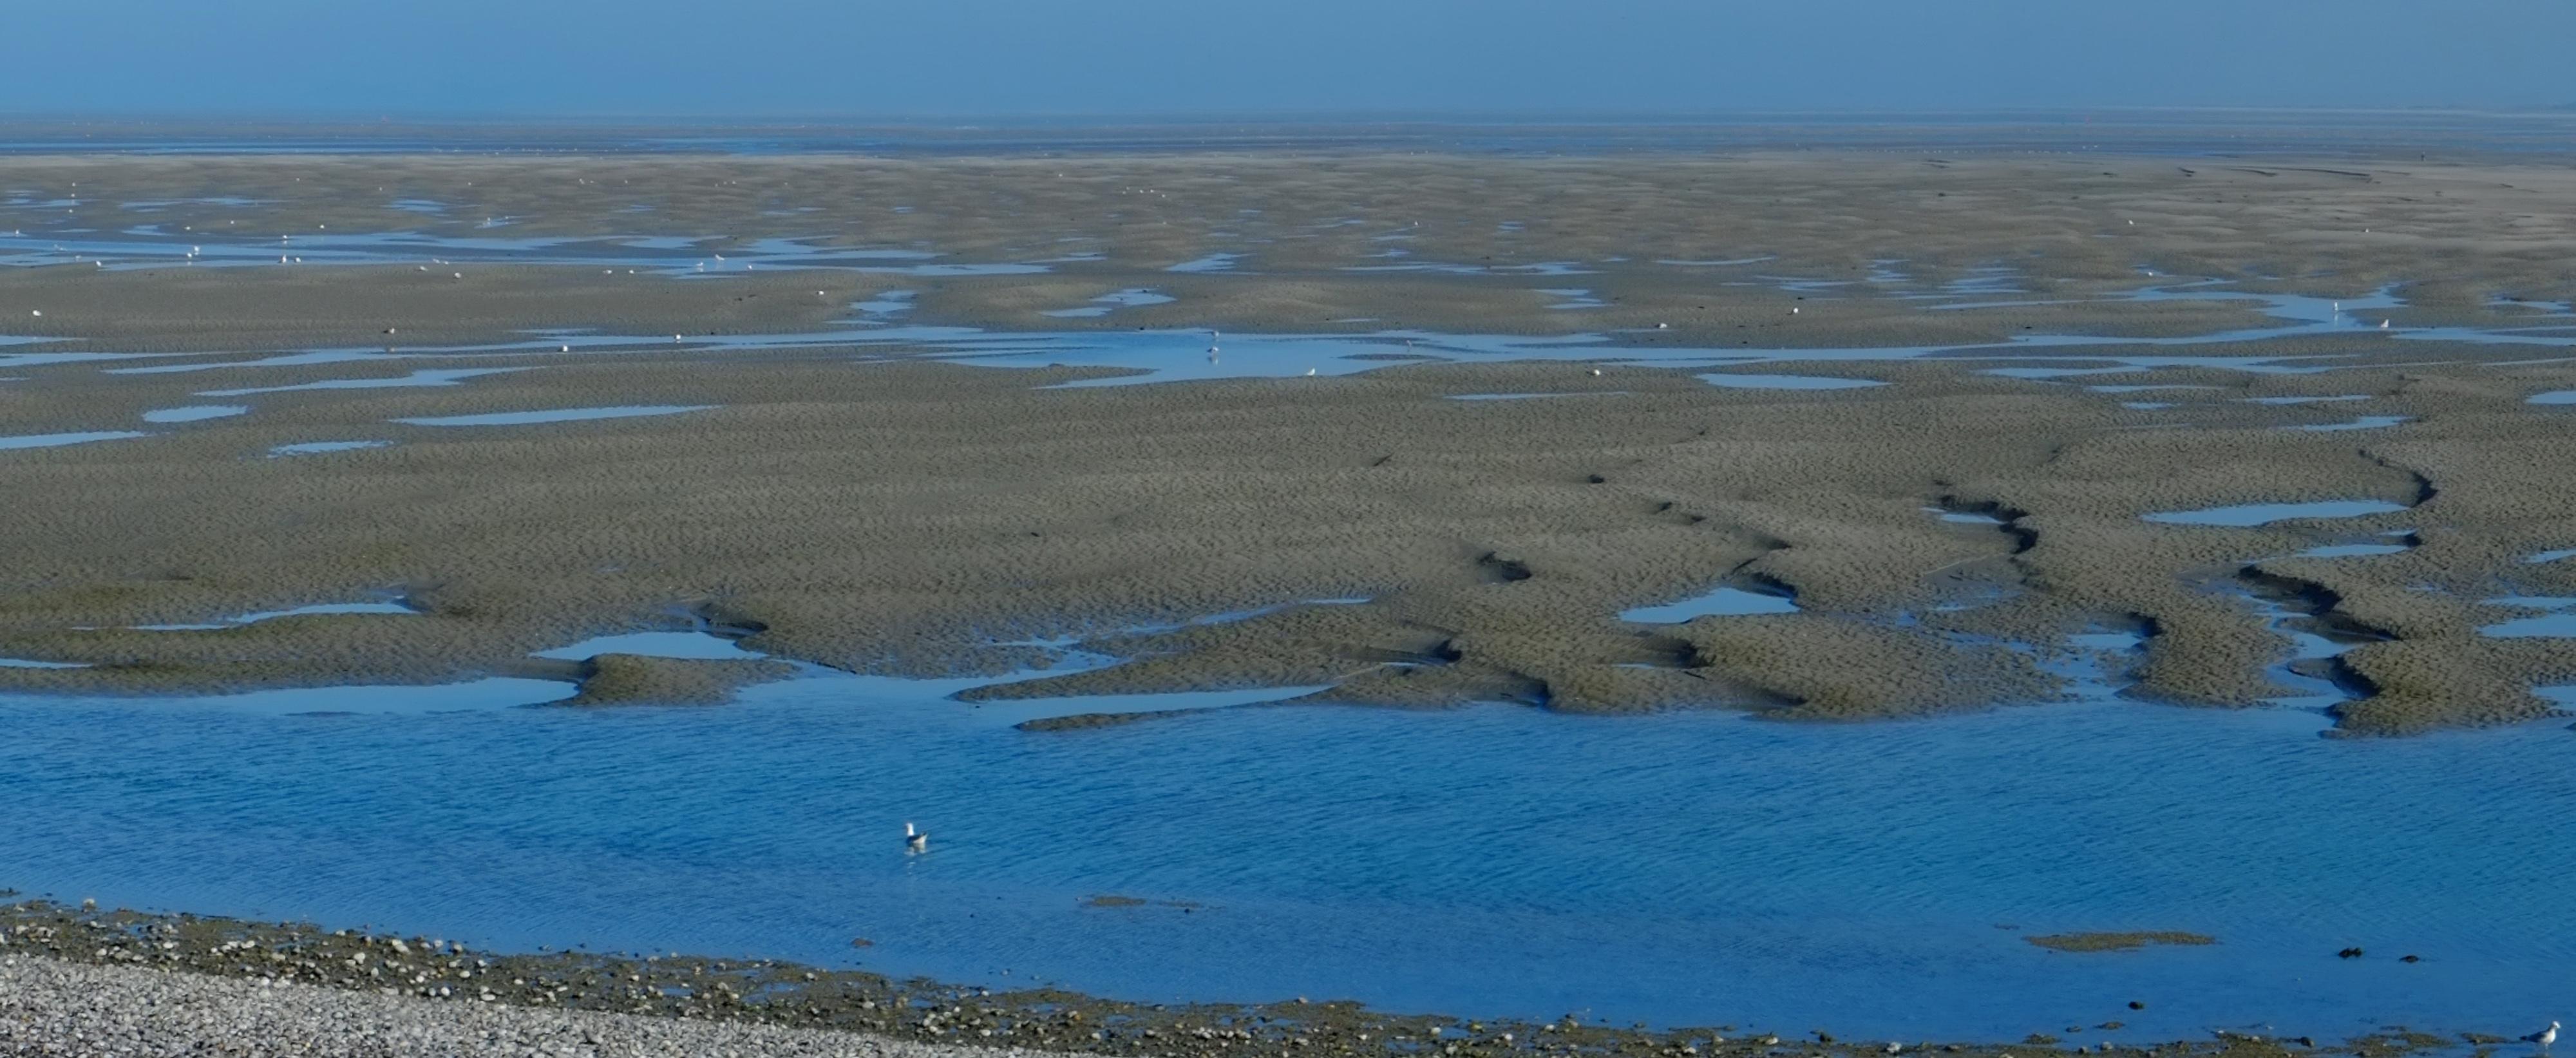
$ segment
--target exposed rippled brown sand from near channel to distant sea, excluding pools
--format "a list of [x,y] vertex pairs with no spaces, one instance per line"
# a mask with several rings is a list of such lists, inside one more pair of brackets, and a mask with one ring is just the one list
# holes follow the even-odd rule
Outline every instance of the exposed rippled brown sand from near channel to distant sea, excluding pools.
[[[2527,561],[2576,546],[2563,412],[2527,404],[2576,389],[2576,366],[2545,345],[2398,342],[2365,327],[2050,350],[2311,355],[2324,373],[2009,378],[1965,355],[1716,368],[1886,384],[1829,391],[1718,389],[1698,378],[1705,366],[1595,376],[1579,360],[1043,389],[1115,371],[974,368],[917,345],[435,350],[541,345],[523,332],[536,327],[690,340],[819,329],[886,291],[912,291],[902,319],[914,324],[1615,332],[1633,348],[2146,342],[2277,324],[2254,301],[2128,296],[2226,278],[2223,291],[2354,301],[2393,288],[2406,306],[2370,317],[2401,329],[2548,327],[2550,309],[2530,301],[2576,293],[2563,270],[2576,175],[2548,162],[10,157],[0,190],[26,201],[0,224],[28,242],[134,224],[224,239],[685,234],[716,237],[708,257],[742,260],[762,237],[796,237],[1046,268],[0,270],[0,329],[67,340],[0,355],[237,363],[108,373],[129,363],[0,358],[13,378],[0,381],[0,438],[152,430],[0,450],[13,497],[0,510],[0,656],[82,664],[0,667],[10,690],[502,672],[585,680],[580,703],[716,703],[775,677],[762,664],[528,656],[716,623],[773,659],[855,672],[1043,664],[1046,651],[1010,644],[1066,633],[1131,659],[992,690],[1010,695],[1334,685],[1316,698],[1857,721],[2048,700],[2058,644],[2120,628],[2148,633],[2130,695],[2241,708],[2287,692],[2264,669],[2290,654],[2249,592],[2293,605],[2298,628],[2360,641],[2308,664],[2354,695],[2336,705],[2342,731],[2548,718],[2553,703],[2532,687],[2576,680],[2576,641],[2478,633],[2519,615],[2481,600],[2576,595],[2576,564]],[[250,203],[126,206],[206,196]],[[1242,257],[1170,270],[1208,255]],[[1128,288],[1175,301],[1046,314]],[[1551,309],[1564,301],[1551,288],[1602,306]],[[2012,304],[1932,309],[1924,293],[1942,291]],[[2506,296],[2530,301],[2496,301]],[[242,366],[312,348],[402,358]],[[518,371],[204,396],[443,368]],[[1461,394],[1605,396],[1450,399]],[[2257,402],[2344,394],[2365,399]],[[147,409],[211,402],[252,412],[139,425]],[[711,409],[397,422],[626,404]],[[2403,422],[2285,430],[2360,414]],[[268,458],[327,440],[389,445]],[[2259,528],[2141,520],[2300,499],[2403,510]],[[2391,530],[2421,543],[2293,559]],[[1801,613],[1618,620],[1718,584],[1793,592]],[[131,628],[389,595],[422,613]],[[1327,597],[1368,602],[1296,605]],[[1255,608],[1280,610],[1118,633]]]

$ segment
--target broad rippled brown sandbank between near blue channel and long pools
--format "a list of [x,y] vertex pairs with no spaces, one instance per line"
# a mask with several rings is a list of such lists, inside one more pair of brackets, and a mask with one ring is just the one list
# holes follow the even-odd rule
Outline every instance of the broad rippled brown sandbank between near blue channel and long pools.
[[[2290,378],[2097,376],[2210,386],[2172,391],[2156,412],[1958,360],[1870,363],[1888,386],[1847,391],[1716,389],[1685,368],[1595,378],[1561,363],[1051,391],[1038,386],[1100,373],[835,350],[477,358],[526,371],[265,394],[229,420],[8,453],[0,479],[31,502],[0,515],[18,541],[0,574],[0,656],[88,667],[10,667],[0,685],[430,682],[520,672],[528,654],[595,633],[688,628],[690,608],[721,605],[762,628],[750,649],[855,672],[1015,669],[1048,651],[1007,644],[1066,633],[1131,659],[994,695],[1327,682],[1337,700],[1396,705],[1837,718],[2050,695],[2027,654],[1958,636],[2048,646],[2138,626],[2154,631],[2141,695],[2244,705],[2277,692],[2262,669],[2287,646],[2210,577],[2259,561],[2331,587],[2334,620],[2385,633],[2347,659],[2383,687],[2347,708],[2347,726],[2545,716],[2530,687],[2576,680],[2568,641],[2481,638],[2501,610],[2478,600],[2499,584],[2576,589],[2576,571],[2524,561],[2566,546],[2555,497],[2571,463],[2555,414],[2522,402],[2576,378],[2450,353],[2460,363],[2380,368],[2370,360],[2388,353],[2372,353]],[[134,422],[204,386],[384,376],[23,371],[41,389],[0,391],[15,396],[0,407],[28,432]],[[1607,386],[1620,394],[1448,399]],[[2318,391],[2370,399],[2246,399]],[[397,422],[608,402],[714,409]],[[2349,407],[2414,422],[2282,430]],[[2164,422],[2187,427],[2154,430]],[[317,438],[392,445],[268,456]],[[2403,510],[2254,528],[2141,520],[2287,499]],[[2421,546],[2290,559],[2391,530]],[[1801,613],[1618,620],[1731,577],[1793,592]],[[386,592],[420,613],[134,628]],[[1298,605],[1324,597],[1365,602]],[[1273,610],[1190,623],[1260,608]],[[688,664],[667,662],[672,674]],[[2439,672],[2463,664],[2486,692],[2447,690]]]

